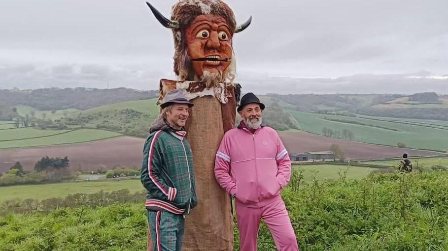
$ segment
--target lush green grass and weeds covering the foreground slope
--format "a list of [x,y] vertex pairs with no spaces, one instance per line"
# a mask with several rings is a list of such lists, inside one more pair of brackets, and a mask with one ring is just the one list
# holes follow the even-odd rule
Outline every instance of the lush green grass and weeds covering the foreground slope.
[[[295,171],[282,196],[303,251],[448,250],[448,172],[375,174],[310,183]],[[141,251],[142,203],[0,217],[3,251]],[[239,250],[238,230],[235,226]],[[259,251],[275,246],[262,224]]]

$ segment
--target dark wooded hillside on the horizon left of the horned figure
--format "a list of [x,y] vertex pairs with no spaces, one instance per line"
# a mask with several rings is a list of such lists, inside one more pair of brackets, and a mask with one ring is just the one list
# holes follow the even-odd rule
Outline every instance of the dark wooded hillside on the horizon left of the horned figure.
[[106,104],[157,97],[157,91],[128,88],[45,88],[32,91],[0,90],[0,105],[31,106],[37,110],[86,110]]

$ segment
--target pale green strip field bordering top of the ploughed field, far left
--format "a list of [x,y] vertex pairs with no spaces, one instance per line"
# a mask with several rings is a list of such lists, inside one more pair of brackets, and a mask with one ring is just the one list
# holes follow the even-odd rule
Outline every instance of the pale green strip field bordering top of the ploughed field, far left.
[[[11,130],[17,130],[19,132],[22,129],[11,129]],[[9,130],[4,130],[4,131],[9,131]],[[41,131],[41,130],[37,130],[37,131]],[[1,132],[2,131],[0,131],[0,133]],[[46,131],[42,130],[41,132],[46,132]],[[122,134],[110,132],[110,131],[104,131],[104,130],[80,129],[80,130],[75,130],[75,131],[72,131],[69,133],[48,136],[48,137],[44,137],[44,138],[22,139],[22,140],[13,140],[13,141],[0,141],[0,149],[80,143],[80,142],[94,141],[94,140],[99,140],[99,139],[108,139],[108,138],[113,138],[113,137],[117,137],[120,135],[122,135]]]

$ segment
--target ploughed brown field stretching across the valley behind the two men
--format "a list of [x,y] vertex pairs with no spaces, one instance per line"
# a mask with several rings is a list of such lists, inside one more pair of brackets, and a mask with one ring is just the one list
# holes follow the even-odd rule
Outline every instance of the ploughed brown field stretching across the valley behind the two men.
[[[337,143],[345,150],[348,159],[399,157],[403,152],[407,152],[410,156],[438,154],[431,151],[350,142],[304,132],[280,132],[279,135],[290,153],[328,151],[332,143]],[[140,167],[143,143],[144,139],[119,137],[80,144],[0,150],[0,172],[8,170],[16,161],[20,161],[25,169],[31,170],[34,164],[44,156],[68,156],[71,170]]]

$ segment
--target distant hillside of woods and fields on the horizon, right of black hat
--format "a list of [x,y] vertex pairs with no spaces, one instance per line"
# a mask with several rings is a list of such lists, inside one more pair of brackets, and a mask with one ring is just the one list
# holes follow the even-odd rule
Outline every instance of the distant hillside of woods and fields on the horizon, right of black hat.
[[294,110],[325,114],[448,120],[448,99],[434,92],[401,94],[300,94],[268,97]]

